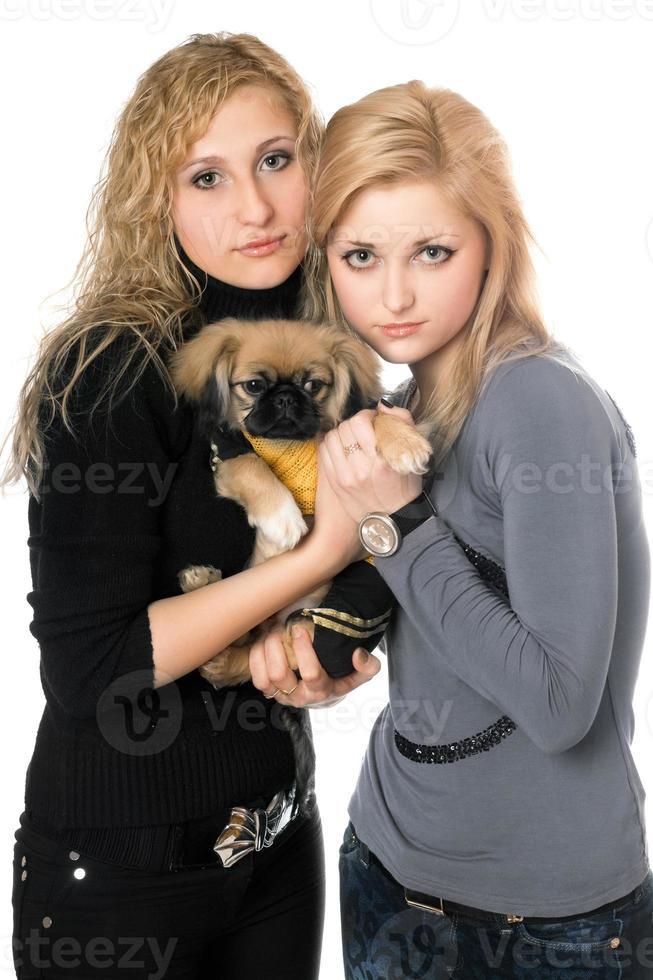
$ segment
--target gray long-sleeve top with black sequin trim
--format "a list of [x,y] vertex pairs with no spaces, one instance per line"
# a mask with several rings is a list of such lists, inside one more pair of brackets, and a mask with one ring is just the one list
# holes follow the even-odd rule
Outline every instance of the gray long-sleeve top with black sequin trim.
[[[403,885],[526,916],[596,908],[649,867],[630,751],[650,594],[636,448],[568,363],[495,370],[429,491],[438,516],[375,561],[398,600],[381,645],[390,701],[349,803]],[[454,533],[505,570],[509,598]],[[450,744],[502,716],[511,733],[454,762],[395,742]]]

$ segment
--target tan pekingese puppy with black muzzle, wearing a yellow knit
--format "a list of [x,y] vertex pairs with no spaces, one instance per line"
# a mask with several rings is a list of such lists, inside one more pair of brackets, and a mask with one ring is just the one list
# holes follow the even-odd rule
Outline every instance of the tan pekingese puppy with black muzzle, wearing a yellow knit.
[[[216,492],[239,503],[256,528],[250,566],[293,548],[309,530],[316,439],[361,409],[376,406],[383,394],[381,364],[370,347],[343,328],[305,320],[219,320],[206,324],[171,356],[173,383],[196,404],[207,437],[218,429],[240,432],[255,449],[216,459],[214,470]],[[374,431],[377,452],[392,469],[427,471],[432,448],[424,425],[380,412]],[[292,489],[283,482],[285,476]],[[179,573],[179,583],[188,592],[220,577],[211,566],[189,566]],[[202,676],[216,688],[250,680],[251,644],[280,626],[288,663],[296,669],[286,619],[297,609],[319,605],[329,584],[239,637],[199,668]],[[312,620],[305,626],[313,638]]]

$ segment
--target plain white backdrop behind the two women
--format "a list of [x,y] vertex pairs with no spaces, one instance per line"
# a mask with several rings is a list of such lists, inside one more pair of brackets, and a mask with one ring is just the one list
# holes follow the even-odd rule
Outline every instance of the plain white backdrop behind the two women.
[[[220,9],[221,8],[221,9]],[[422,78],[459,91],[505,135],[549,325],[631,424],[653,526],[650,386],[653,273],[653,0],[0,0],[4,437],[37,339],[57,321],[115,118],[137,77],[190,34],[247,31],[286,56],[325,117],[384,85]],[[387,369],[388,386],[406,369]],[[10,869],[25,770],[43,707],[31,609],[27,495],[1,499],[5,682],[0,686],[4,842],[0,969],[13,976]],[[337,849],[385,665],[313,711],[328,867],[323,980],[342,976]],[[644,650],[633,754],[653,793],[653,667]],[[651,802],[647,800],[649,824]]]

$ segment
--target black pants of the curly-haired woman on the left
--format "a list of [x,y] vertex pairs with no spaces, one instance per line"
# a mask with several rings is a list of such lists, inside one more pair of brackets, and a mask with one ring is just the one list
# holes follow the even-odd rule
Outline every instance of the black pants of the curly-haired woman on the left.
[[173,860],[144,871],[71,850],[21,818],[12,892],[19,980],[316,980],[325,889],[317,808],[231,868],[198,849],[187,825],[174,830]]

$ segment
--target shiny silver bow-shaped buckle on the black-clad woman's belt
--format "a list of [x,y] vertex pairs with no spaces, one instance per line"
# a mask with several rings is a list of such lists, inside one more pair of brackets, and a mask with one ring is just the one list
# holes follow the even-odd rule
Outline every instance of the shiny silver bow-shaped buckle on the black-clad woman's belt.
[[213,845],[225,868],[240,861],[252,851],[261,851],[274,843],[277,834],[295,816],[295,784],[286,792],[279,790],[263,809],[232,807],[229,820]]

